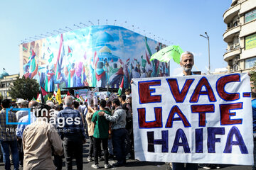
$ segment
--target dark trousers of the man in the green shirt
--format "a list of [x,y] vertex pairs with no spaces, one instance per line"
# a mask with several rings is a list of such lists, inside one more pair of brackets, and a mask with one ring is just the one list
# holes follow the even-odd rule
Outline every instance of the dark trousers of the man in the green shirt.
[[94,142],[93,142],[93,147],[94,147],[94,155],[95,155],[95,164],[99,164],[98,157],[99,157],[99,151],[100,151],[100,144],[102,142],[102,147],[104,151],[104,159],[105,159],[105,164],[108,164],[108,151],[107,151],[107,138],[105,139],[100,139],[100,138],[95,138],[93,137]]

